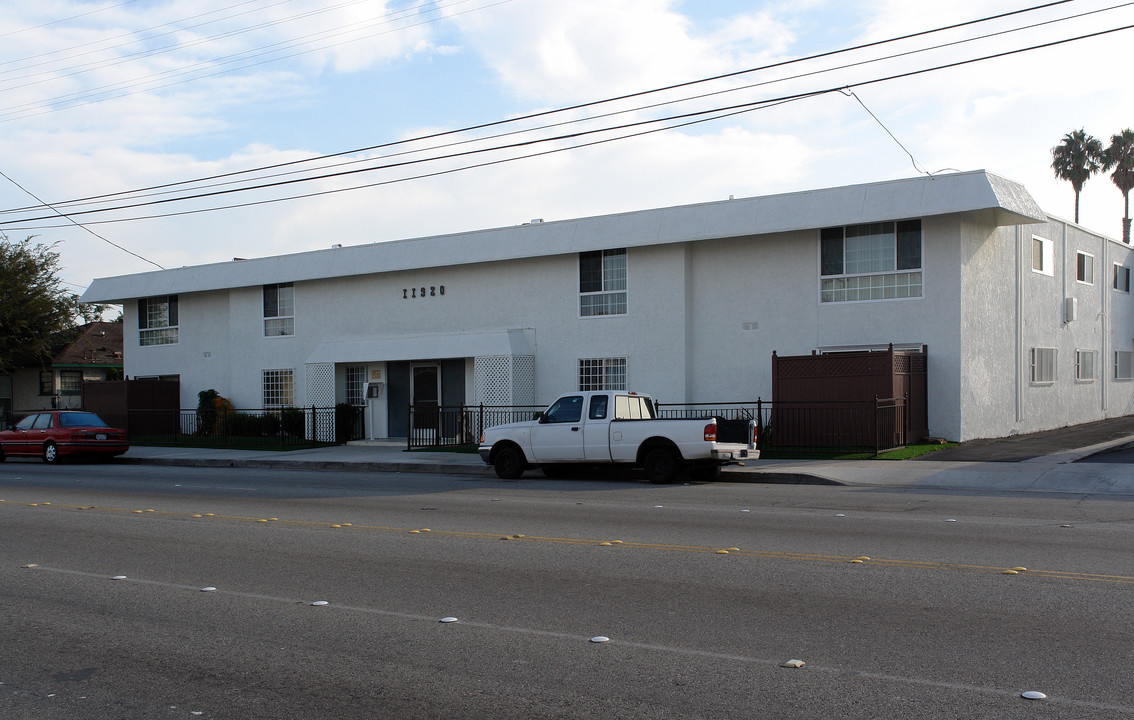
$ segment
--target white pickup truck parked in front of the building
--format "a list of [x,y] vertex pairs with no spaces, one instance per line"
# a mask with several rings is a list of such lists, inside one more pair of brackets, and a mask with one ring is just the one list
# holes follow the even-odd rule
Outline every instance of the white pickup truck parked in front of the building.
[[550,476],[570,465],[641,467],[650,482],[668,483],[683,471],[711,480],[722,465],[760,457],[755,423],[730,427],[736,442],[718,442],[713,417],[660,420],[644,395],[624,391],[568,392],[535,420],[489,427],[481,458],[499,477],[514,480],[530,467]]

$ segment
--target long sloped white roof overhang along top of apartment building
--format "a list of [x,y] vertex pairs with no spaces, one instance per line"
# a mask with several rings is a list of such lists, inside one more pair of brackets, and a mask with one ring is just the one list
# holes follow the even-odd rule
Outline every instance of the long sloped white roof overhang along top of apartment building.
[[272,282],[760,236],[976,211],[992,211],[999,226],[1047,220],[1047,214],[1023,185],[984,170],[974,170],[98,278],[81,300],[122,303],[137,297]]

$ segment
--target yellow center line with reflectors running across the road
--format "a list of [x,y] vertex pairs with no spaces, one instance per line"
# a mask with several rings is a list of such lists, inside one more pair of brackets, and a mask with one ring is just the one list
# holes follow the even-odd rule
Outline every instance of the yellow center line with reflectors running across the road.
[[[634,542],[634,541],[621,541],[621,540],[611,541],[611,540],[593,540],[584,537],[542,537],[538,535],[479,533],[471,531],[433,531],[426,528],[395,527],[395,526],[382,526],[382,525],[355,525],[352,523],[293,520],[293,519],[277,518],[277,517],[265,518],[265,517],[248,517],[242,515],[215,515],[213,513],[180,513],[171,510],[115,508],[105,506],[60,505],[53,502],[11,502],[7,500],[0,500],[0,503],[2,503],[2,506],[6,507],[35,508],[39,511],[82,510],[82,511],[98,511],[98,513],[113,513],[113,514],[130,514],[130,515],[142,515],[151,517],[161,516],[166,518],[229,520],[237,523],[265,523],[270,525],[288,525],[293,527],[324,527],[328,530],[342,528],[348,531],[366,531],[366,532],[380,532],[380,533],[413,533],[413,534],[418,534],[421,536],[441,535],[447,537],[467,537],[472,540],[510,540],[514,542],[535,542],[535,543],[555,543],[555,544],[592,545],[592,547],[609,545],[611,551],[615,552],[617,552],[618,549],[623,550],[633,549],[633,550],[662,550],[670,552],[697,552],[697,553],[718,553],[718,554],[723,553],[722,549],[718,547],[676,545],[666,543],[646,543],[646,542]],[[603,550],[606,549],[607,548],[604,547]],[[868,558],[865,556],[855,557],[855,556],[816,554],[816,553],[804,553],[804,552],[784,552],[773,550],[741,550],[737,548],[730,548],[725,554],[729,554],[730,557],[762,558],[762,559],[776,559],[776,560],[855,562],[861,565],[877,565],[888,568],[959,570],[970,573],[1000,573],[1000,574],[1007,571],[1009,575],[1017,575],[1017,576],[1032,575],[1036,577],[1047,577],[1053,579],[1134,584],[1134,576],[1127,576],[1127,575],[1103,575],[1098,573],[1072,573],[1066,570],[1024,569],[1018,567],[1006,568],[1002,566],[966,565],[959,562],[942,562],[933,560],[899,560],[890,558]]]

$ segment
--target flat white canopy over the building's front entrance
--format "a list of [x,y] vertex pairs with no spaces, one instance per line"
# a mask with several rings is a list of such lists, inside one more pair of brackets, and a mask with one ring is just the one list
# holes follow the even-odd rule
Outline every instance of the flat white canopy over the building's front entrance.
[[449,357],[534,355],[535,330],[494,332],[441,332],[420,336],[384,336],[320,342],[307,357],[318,363],[386,363]]

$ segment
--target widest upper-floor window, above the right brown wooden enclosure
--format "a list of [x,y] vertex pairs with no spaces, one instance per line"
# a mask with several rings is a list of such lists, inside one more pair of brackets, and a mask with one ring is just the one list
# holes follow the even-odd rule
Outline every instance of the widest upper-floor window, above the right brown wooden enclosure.
[[820,302],[922,296],[921,220],[820,230]]

